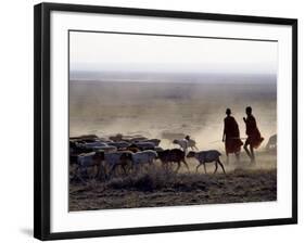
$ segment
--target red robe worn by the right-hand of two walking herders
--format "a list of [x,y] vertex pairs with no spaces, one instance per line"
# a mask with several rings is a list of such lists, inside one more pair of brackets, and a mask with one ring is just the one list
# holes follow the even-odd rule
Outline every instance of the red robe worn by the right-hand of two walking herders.
[[247,116],[245,119],[245,133],[247,135],[245,142],[251,144],[254,149],[257,149],[264,140],[253,115]]

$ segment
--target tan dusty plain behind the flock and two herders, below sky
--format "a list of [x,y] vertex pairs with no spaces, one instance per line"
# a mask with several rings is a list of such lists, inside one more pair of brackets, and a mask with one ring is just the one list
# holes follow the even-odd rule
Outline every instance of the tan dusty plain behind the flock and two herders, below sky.
[[265,138],[277,133],[276,82],[255,79],[238,82],[175,81],[69,81],[69,135],[142,135],[162,140],[163,135],[190,135],[200,150],[218,149],[225,111],[230,107],[241,138],[245,138],[244,108],[251,105]]

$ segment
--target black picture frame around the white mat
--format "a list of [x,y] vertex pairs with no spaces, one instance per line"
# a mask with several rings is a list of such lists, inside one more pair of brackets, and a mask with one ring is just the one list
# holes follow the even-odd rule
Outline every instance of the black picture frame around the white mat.
[[[109,13],[134,16],[176,17],[185,20],[211,20],[224,22],[259,23],[292,26],[292,217],[264,220],[229,221],[213,223],[173,225],[157,227],[92,230],[76,232],[50,232],[50,13],[68,11],[81,13]],[[40,240],[111,236],[126,234],[161,233],[175,231],[208,230],[224,228],[258,227],[297,223],[297,20],[178,12],[149,9],[112,8],[79,4],[40,3],[34,14],[35,51],[35,168],[34,168],[34,236]]]

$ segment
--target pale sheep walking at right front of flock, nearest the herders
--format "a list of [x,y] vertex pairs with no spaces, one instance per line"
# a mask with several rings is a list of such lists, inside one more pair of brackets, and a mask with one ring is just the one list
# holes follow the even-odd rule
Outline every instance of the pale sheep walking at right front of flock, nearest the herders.
[[215,170],[214,174],[217,171],[218,169],[218,164],[221,166],[221,169],[224,171],[224,174],[226,174],[225,171],[225,167],[223,165],[223,163],[220,162],[220,153],[217,150],[208,150],[208,151],[199,151],[199,152],[194,152],[194,151],[190,151],[187,155],[187,157],[194,157],[199,161],[199,165],[196,166],[196,171],[199,169],[199,167],[201,165],[204,166],[204,171],[206,174],[206,167],[205,167],[205,163],[212,163],[215,162]]

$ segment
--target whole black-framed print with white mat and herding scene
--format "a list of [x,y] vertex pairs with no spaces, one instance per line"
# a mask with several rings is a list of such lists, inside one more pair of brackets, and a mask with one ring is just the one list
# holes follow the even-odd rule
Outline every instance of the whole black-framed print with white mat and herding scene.
[[35,238],[296,222],[296,20],[35,7]]

